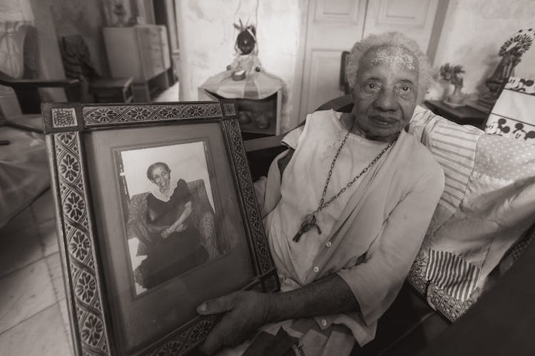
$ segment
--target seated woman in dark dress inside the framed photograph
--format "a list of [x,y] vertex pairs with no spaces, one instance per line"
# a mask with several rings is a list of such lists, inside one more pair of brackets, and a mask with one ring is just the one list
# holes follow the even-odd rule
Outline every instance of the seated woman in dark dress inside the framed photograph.
[[147,169],[147,178],[155,187],[147,196],[150,244],[140,266],[144,288],[158,286],[208,259],[198,230],[188,221],[193,210],[188,185],[183,179],[173,181],[170,173],[163,162]]

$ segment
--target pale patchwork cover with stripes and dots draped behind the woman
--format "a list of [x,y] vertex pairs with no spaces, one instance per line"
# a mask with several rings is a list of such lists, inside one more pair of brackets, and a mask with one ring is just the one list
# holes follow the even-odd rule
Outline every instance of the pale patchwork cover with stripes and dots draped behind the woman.
[[534,223],[535,146],[417,108],[409,125],[444,169],[445,187],[410,283],[450,320]]

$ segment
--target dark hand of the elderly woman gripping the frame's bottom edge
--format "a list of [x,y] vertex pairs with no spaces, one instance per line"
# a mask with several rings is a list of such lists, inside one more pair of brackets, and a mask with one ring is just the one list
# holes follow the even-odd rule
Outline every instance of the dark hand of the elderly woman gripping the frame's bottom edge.
[[222,346],[235,346],[269,321],[272,295],[253,291],[230,293],[197,308],[201,315],[225,313],[210,331],[200,350],[207,354]]

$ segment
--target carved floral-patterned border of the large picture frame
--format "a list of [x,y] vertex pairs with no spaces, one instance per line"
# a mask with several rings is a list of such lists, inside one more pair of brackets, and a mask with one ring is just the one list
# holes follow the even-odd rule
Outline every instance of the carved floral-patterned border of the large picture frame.
[[[51,163],[58,239],[76,355],[114,355],[111,316],[97,254],[96,231],[88,192],[86,157],[81,132],[93,127],[118,129],[126,125],[158,125],[162,121],[218,122],[227,144],[235,186],[240,197],[255,278],[244,289],[273,292],[279,282],[272,262],[260,210],[250,177],[245,148],[233,102],[148,105],[45,105],[47,150]],[[194,121],[196,120],[196,121]],[[214,316],[198,317],[142,350],[143,355],[184,355],[204,340]]]

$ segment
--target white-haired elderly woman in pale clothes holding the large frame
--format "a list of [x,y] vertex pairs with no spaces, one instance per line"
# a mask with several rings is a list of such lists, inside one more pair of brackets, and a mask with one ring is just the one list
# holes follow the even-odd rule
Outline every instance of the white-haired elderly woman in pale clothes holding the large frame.
[[399,292],[444,188],[432,154],[404,131],[430,67],[414,41],[384,33],[355,44],[347,75],[352,112],[315,112],[290,132],[260,199],[281,293],[201,304],[200,314],[224,313],[205,352],[255,336],[225,352],[349,355]]

